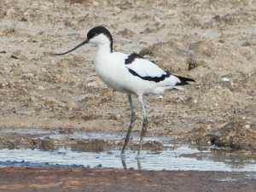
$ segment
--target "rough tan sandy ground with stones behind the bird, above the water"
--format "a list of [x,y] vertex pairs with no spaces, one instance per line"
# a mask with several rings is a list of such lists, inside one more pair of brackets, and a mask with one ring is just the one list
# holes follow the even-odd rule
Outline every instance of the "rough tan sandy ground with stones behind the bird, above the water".
[[[147,137],[214,143],[253,155],[255,13],[254,0],[2,0],[0,127],[126,131],[127,96],[96,76],[94,46],[49,55],[72,49],[90,28],[103,25],[113,34],[115,51],[140,53],[196,80],[185,92],[144,96]],[[141,108],[133,99],[138,117],[134,130],[140,131]],[[0,136],[0,143],[7,140]]]

